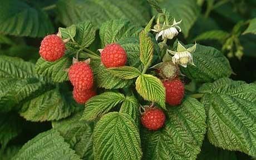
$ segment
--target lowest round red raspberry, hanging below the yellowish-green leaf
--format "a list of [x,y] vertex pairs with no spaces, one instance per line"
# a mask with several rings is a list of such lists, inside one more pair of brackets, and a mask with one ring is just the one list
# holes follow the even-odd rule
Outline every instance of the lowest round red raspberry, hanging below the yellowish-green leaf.
[[165,114],[161,109],[150,107],[146,108],[145,113],[141,116],[142,125],[152,131],[163,127],[165,122]]

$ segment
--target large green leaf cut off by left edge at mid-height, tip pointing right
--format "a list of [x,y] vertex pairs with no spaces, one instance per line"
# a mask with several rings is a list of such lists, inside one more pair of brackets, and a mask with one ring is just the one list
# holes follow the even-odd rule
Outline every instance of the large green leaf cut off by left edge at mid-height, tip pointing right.
[[[33,70],[32,63],[22,59],[0,56],[0,111],[18,109],[16,106],[24,99],[49,87],[47,82]],[[16,107],[16,108],[14,108]]]

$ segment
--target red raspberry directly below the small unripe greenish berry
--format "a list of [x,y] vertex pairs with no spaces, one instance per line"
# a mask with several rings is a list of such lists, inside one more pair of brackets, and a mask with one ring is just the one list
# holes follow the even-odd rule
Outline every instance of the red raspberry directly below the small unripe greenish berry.
[[172,81],[164,81],[165,87],[165,101],[171,106],[179,105],[184,97],[184,84],[180,79],[174,79]]

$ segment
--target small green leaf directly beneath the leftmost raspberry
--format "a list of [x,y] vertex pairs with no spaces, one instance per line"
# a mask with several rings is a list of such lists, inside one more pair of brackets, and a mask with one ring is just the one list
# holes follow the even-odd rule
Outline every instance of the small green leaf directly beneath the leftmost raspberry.
[[64,56],[55,62],[48,62],[44,59],[38,59],[36,63],[36,71],[42,76],[48,76],[53,82],[68,81],[68,72],[66,71],[72,64],[72,59]]

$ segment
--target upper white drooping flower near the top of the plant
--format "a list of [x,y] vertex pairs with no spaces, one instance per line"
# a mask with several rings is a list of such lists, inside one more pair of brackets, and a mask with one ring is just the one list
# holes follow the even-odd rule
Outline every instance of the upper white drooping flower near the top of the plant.
[[156,33],[156,40],[162,36],[162,39],[167,38],[167,39],[173,39],[175,36],[181,32],[181,28],[178,26],[182,20],[179,22],[176,22],[174,18],[174,22],[171,26],[166,25],[165,23],[163,24],[162,28],[159,29],[152,29],[152,31],[157,32]]

